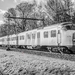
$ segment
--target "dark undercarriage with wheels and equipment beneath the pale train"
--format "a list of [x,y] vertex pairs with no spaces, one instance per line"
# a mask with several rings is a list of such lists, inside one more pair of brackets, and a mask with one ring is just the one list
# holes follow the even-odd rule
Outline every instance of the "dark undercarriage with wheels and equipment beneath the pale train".
[[61,54],[74,54],[75,51],[75,47],[72,47],[72,48],[68,48],[68,47],[65,47],[65,46],[28,46],[28,45],[13,45],[13,46],[6,46],[7,47],[7,50],[10,50],[10,48],[20,48],[20,49],[32,49],[32,50],[40,50],[40,51],[49,51],[49,52],[54,52],[54,53],[61,53]]

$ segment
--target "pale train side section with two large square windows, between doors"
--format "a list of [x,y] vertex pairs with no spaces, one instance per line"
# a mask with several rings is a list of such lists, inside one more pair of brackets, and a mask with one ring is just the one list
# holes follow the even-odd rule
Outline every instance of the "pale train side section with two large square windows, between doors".
[[43,30],[41,44],[46,46],[58,46],[57,33],[58,33],[57,28]]

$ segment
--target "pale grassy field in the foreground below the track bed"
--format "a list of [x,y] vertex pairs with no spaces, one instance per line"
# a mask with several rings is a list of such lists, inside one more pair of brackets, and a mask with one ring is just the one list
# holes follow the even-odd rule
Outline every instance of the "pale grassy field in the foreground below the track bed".
[[[0,49],[0,75],[75,75],[75,61]],[[3,75],[3,74],[2,74]]]

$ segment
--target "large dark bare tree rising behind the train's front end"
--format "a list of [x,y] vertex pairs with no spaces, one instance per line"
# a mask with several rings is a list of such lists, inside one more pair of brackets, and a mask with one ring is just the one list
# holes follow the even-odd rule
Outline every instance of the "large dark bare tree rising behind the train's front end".
[[57,23],[70,21],[71,7],[71,0],[49,0],[47,2],[48,13],[53,16]]

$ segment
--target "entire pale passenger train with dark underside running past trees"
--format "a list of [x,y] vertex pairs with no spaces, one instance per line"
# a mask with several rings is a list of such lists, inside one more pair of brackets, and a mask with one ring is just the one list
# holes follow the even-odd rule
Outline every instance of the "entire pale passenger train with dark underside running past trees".
[[44,48],[50,52],[75,52],[75,30],[69,22],[54,24],[0,37],[0,46],[28,49]]

